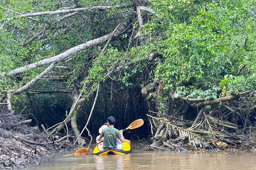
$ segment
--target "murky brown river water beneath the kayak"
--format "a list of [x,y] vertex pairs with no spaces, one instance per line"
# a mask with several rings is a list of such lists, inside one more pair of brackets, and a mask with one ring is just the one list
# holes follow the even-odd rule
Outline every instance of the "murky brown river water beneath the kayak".
[[[132,145],[127,155],[92,155],[94,148],[86,155],[75,156],[77,150],[54,155],[43,160],[43,165],[31,166],[24,170],[221,170],[256,169],[256,152],[251,151],[147,151]],[[79,148],[78,148],[79,149]],[[49,162],[48,162],[49,160]],[[44,163],[45,162],[45,163]]]

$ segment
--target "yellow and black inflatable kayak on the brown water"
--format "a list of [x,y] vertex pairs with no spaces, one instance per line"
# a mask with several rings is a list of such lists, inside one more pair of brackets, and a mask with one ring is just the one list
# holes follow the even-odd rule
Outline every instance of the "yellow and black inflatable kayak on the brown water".
[[122,149],[115,149],[112,146],[109,146],[106,149],[99,150],[96,146],[93,150],[93,154],[95,155],[125,155],[127,153],[131,153],[131,146],[128,142],[124,142]]

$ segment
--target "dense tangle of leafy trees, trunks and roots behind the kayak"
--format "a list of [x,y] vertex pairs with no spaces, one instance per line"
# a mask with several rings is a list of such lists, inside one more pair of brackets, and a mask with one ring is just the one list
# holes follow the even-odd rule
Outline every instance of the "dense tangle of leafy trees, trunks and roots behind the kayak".
[[253,0],[1,0],[1,116],[84,137],[142,118],[127,138],[254,146],[255,25]]

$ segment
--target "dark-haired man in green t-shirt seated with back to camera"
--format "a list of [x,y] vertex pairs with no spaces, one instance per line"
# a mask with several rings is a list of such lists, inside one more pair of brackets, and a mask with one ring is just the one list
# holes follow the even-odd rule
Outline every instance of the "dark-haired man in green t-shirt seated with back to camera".
[[112,116],[108,117],[107,122],[108,122],[108,128],[104,128],[100,133],[100,137],[98,138],[98,141],[104,141],[103,149],[106,149],[109,146],[112,146],[113,148],[116,149],[117,148],[116,138],[118,138],[121,142],[131,143],[130,140],[124,139],[123,130],[119,131],[116,128],[114,128],[114,124],[116,123],[116,120],[114,117]]

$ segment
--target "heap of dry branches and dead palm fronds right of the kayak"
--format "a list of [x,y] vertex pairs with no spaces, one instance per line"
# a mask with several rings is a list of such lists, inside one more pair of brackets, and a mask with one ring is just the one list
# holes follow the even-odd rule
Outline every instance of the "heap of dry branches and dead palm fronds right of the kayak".
[[[202,108],[198,123],[161,113],[150,112],[152,144],[145,150],[201,150],[201,149],[254,149],[256,128],[239,126],[217,118],[219,111],[208,112]],[[199,112],[200,114],[200,112]]]

